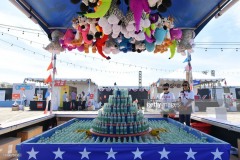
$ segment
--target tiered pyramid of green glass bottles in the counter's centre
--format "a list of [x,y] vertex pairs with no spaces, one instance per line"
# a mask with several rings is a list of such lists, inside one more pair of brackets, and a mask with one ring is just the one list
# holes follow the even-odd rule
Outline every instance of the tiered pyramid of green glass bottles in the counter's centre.
[[92,130],[106,135],[141,135],[149,130],[148,120],[144,118],[142,110],[138,110],[136,103],[127,89],[117,89],[109,96],[108,103],[98,111],[93,121]]

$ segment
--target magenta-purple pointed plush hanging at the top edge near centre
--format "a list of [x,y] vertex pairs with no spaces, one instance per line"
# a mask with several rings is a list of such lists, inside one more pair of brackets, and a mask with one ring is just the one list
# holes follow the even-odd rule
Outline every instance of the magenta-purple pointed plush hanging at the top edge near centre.
[[140,22],[143,11],[149,13],[151,10],[148,5],[147,0],[130,0],[130,9],[133,12],[135,25],[136,25],[136,33],[140,32]]

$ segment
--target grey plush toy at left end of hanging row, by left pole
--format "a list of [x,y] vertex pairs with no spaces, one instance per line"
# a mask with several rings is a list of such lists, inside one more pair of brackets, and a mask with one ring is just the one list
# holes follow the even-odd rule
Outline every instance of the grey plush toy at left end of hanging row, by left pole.
[[64,51],[64,48],[61,47],[59,40],[63,37],[63,33],[59,30],[54,30],[51,33],[52,41],[44,48],[50,53],[57,53]]

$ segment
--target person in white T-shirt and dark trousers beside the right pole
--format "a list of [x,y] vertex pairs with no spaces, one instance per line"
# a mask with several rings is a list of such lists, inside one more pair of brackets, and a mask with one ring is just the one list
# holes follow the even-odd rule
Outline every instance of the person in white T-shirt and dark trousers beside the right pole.
[[190,90],[190,84],[188,81],[183,81],[183,90],[179,93],[179,121],[187,126],[190,126],[192,102],[194,101],[194,92]]

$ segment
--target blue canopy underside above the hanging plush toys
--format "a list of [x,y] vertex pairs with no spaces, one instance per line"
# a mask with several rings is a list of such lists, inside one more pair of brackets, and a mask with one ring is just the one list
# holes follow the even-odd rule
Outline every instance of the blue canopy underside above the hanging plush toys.
[[[80,12],[79,4],[74,5],[70,0],[15,0],[24,10],[31,12],[39,25],[50,33],[52,28],[69,28],[71,20]],[[172,0],[172,6],[163,16],[172,16],[175,27],[193,28],[196,35],[218,13],[220,8],[230,0]],[[121,0],[124,4],[124,0]],[[221,5],[220,5],[221,3]],[[126,6],[120,6],[126,11]],[[35,14],[32,14],[34,12]],[[152,11],[156,12],[156,11]],[[212,14],[210,14],[212,13]],[[37,15],[37,16],[36,16]],[[45,23],[45,24],[44,24]]]

